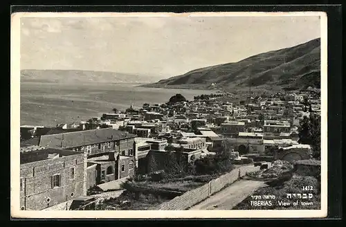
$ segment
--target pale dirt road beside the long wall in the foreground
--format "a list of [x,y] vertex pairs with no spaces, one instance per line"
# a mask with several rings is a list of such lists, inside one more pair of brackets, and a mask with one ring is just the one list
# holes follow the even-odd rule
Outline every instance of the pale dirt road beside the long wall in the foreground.
[[190,210],[231,210],[234,206],[248,197],[249,194],[264,185],[262,181],[236,181],[228,188],[217,192],[217,194],[193,206]]

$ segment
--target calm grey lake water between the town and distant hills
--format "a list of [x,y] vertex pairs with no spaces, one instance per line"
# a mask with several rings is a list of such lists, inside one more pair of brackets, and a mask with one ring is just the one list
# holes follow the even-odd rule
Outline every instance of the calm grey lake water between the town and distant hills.
[[176,93],[188,100],[216,91],[190,89],[154,89],[138,84],[57,84],[21,82],[21,125],[55,126],[62,122],[80,122],[112,113],[142,107],[143,103],[164,103]]

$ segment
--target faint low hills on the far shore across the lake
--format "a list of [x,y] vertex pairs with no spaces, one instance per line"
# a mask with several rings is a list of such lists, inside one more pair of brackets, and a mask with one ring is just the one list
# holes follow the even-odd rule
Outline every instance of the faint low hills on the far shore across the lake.
[[157,79],[148,75],[134,75],[103,71],[80,70],[21,70],[21,82],[113,82],[113,83],[150,83]]

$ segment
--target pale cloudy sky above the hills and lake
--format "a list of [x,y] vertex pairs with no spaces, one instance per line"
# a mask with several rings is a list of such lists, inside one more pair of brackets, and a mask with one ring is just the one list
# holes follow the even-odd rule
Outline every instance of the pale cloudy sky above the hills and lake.
[[309,17],[24,17],[21,69],[170,78],[320,37]]

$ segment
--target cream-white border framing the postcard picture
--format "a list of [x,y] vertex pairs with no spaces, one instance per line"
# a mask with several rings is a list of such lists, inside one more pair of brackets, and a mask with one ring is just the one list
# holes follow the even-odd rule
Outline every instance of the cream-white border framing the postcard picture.
[[[320,210],[20,210],[20,27],[21,17],[299,17],[320,16],[321,209]],[[308,218],[327,216],[327,14],[325,12],[15,12],[11,15],[10,201],[12,218]]]

